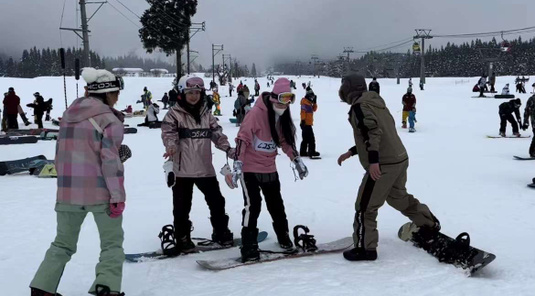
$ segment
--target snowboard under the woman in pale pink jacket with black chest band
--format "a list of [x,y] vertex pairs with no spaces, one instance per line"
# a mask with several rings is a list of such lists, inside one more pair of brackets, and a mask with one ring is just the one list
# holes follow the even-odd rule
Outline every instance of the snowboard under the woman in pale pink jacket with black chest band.
[[[258,242],[263,242],[264,240],[266,240],[267,236],[268,236],[268,233],[265,231],[258,232],[258,237],[257,237]],[[190,252],[188,254],[229,249],[229,248],[233,248],[235,246],[241,245],[241,238],[235,238],[234,245],[230,247],[221,246],[220,244],[213,242],[207,238],[192,237],[191,240],[195,243],[196,247],[193,250],[193,252]],[[186,255],[186,254],[184,253],[183,255]],[[168,259],[168,258],[175,258],[175,257],[176,256],[164,255],[162,253],[162,250],[160,249],[155,252],[125,254],[125,261],[137,263],[137,262],[154,261],[158,259]]]

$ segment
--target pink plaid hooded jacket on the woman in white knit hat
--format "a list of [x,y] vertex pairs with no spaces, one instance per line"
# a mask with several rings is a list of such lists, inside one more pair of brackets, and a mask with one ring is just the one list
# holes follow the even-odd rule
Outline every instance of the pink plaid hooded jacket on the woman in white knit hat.
[[122,121],[120,112],[92,97],[76,99],[63,113],[56,145],[58,203],[100,205],[125,201],[124,168],[119,158],[124,136]]

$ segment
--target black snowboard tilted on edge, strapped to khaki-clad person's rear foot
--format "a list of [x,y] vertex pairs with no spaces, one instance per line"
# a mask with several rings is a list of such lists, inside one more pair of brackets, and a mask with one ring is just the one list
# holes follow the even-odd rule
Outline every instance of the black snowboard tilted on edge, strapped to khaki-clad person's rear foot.
[[452,264],[470,274],[496,259],[496,255],[470,246],[470,236],[466,232],[459,234],[457,238],[439,232],[436,238],[422,242],[415,235],[418,230],[419,227],[414,223],[405,223],[399,229],[398,237],[403,241],[411,241],[415,247],[427,251],[440,262]]

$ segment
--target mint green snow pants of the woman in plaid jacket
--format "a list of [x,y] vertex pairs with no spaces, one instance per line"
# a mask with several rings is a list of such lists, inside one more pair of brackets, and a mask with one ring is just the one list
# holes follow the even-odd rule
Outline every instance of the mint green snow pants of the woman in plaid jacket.
[[56,293],[65,265],[76,253],[80,227],[88,212],[93,213],[100,234],[100,258],[95,268],[96,278],[89,293],[96,295],[95,286],[105,285],[112,292],[121,291],[123,273],[123,217],[110,218],[108,205],[72,206],[56,204],[57,234],[45,254],[30,287]]

